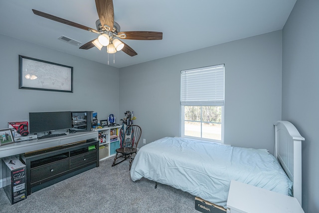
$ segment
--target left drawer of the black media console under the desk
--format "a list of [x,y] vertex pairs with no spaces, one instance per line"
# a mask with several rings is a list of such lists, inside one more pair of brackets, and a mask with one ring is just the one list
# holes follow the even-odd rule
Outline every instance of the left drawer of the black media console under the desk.
[[31,169],[31,184],[51,178],[69,170],[69,159],[61,160],[52,164]]

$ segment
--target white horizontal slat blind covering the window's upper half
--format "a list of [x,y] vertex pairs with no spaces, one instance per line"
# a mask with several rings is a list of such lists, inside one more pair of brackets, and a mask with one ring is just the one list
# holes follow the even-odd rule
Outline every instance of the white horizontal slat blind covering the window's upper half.
[[180,104],[224,105],[224,64],[181,71]]

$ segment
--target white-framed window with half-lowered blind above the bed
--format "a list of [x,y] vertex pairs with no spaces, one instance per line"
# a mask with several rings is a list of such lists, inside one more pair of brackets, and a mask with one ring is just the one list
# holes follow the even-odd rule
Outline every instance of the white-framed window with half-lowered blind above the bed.
[[224,64],[182,70],[181,136],[224,140]]

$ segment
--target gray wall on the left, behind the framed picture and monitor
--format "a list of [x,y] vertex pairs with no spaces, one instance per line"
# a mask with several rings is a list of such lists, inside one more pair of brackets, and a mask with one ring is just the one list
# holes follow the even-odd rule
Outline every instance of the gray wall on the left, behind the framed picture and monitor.
[[[118,68],[1,34],[0,47],[0,129],[7,128],[7,122],[28,121],[28,113],[37,111],[92,110],[99,120],[119,115]],[[18,55],[73,66],[74,92],[18,89]],[[0,177],[1,171],[0,163]]]

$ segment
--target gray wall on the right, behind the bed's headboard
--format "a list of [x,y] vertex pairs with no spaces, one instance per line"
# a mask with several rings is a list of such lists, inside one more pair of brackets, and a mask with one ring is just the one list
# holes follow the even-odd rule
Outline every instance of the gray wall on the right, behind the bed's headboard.
[[283,29],[283,120],[303,142],[303,209],[319,212],[319,1],[297,0]]

